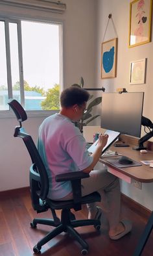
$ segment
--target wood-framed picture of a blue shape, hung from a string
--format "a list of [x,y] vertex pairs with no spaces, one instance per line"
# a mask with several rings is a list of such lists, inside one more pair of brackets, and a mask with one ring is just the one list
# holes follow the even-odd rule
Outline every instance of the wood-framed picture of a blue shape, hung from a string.
[[101,78],[116,77],[117,38],[102,43]]

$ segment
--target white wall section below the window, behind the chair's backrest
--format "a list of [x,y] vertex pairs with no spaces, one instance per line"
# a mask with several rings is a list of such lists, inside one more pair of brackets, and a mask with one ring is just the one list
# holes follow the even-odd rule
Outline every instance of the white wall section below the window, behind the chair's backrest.
[[[24,127],[36,142],[38,126],[42,118],[28,118]],[[20,138],[14,138],[16,118],[0,120],[0,191],[29,186],[29,167],[31,164],[27,149]]]

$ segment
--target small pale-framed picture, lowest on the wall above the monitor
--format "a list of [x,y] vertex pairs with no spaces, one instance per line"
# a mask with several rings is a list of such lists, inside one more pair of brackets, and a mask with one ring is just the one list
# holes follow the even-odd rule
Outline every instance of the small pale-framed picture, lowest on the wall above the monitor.
[[130,84],[145,84],[147,58],[130,62]]

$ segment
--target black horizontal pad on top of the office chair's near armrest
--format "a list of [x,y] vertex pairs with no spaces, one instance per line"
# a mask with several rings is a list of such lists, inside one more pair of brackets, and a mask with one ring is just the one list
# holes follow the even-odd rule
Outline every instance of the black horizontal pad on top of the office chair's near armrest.
[[75,179],[84,179],[88,177],[89,177],[89,173],[85,173],[85,172],[67,172],[64,174],[56,175],[55,180],[57,182],[73,181]]

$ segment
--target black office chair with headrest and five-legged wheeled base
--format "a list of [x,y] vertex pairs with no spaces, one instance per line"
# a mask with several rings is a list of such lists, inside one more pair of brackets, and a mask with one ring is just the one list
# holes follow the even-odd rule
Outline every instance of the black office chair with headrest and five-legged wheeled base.
[[[9,99],[8,105],[16,114],[16,118],[19,122],[19,126],[15,129],[14,136],[23,139],[32,160],[32,165],[30,166],[30,196],[32,199],[32,207],[38,213],[51,209],[53,214],[53,220],[34,218],[30,224],[33,228],[35,228],[37,224],[51,225],[55,227],[51,232],[45,235],[45,237],[43,237],[36,246],[34,246],[34,253],[39,253],[43,244],[49,242],[49,240],[56,237],[56,235],[65,232],[72,235],[78,241],[82,246],[81,253],[86,255],[88,253],[89,246],[87,242],[80,237],[78,232],[75,230],[75,227],[94,225],[95,229],[99,230],[100,220],[75,220],[75,214],[71,212],[71,209],[79,211],[82,209],[81,206],[83,204],[100,201],[100,194],[98,192],[93,192],[88,196],[82,197],[81,179],[88,178],[89,174],[84,172],[72,172],[56,175],[56,182],[71,181],[73,199],[67,201],[54,201],[47,198],[49,190],[47,171],[45,170],[45,166],[32,137],[27,134],[25,129],[22,127],[22,122],[27,120],[27,114],[16,99]],[[59,209],[62,210],[61,219],[56,216],[55,210]]]

